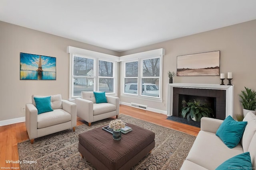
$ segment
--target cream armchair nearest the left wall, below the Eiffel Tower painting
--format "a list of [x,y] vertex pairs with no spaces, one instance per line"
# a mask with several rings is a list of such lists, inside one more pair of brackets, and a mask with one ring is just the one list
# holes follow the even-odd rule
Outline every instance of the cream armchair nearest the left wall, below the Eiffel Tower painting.
[[70,128],[75,131],[76,104],[62,100],[60,94],[53,95],[50,98],[50,106],[53,111],[38,114],[34,97],[44,98],[48,96],[32,95],[32,103],[26,104],[26,129],[31,144],[38,137]]

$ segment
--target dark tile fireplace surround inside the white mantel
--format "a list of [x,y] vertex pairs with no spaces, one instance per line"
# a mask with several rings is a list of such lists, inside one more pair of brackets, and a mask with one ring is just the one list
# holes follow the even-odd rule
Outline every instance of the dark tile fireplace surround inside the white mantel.
[[[214,106],[214,118],[224,120],[226,118],[226,90],[216,90],[216,89],[200,89],[200,88],[179,88],[173,87],[173,107],[172,115],[179,117],[179,107],[181,104],[180,96],[190,96],[188,98],[195,100],[198,98],[212,98],[214,103],[210,104]],[[188,101],[186,101],[188,102]]]

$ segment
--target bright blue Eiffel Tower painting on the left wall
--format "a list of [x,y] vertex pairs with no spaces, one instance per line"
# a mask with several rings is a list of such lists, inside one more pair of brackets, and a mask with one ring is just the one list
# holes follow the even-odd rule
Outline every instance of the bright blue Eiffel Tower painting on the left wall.
[[20,80],[56,80],[56,57],[20,53]]

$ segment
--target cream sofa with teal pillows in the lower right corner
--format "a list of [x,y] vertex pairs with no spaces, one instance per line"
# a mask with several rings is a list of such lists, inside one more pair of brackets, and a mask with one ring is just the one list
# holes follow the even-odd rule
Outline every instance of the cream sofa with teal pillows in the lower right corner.
[[203,117],[201,119],[201,130],[186,160],[182,164],[181,170],[215,170],[224,161],[244,152],[250,152],[252,161],[251,169],[255,169],[256,115],[249,112],[246,117],[244,117],[244,121],[248,121],[248,123],[244,130],[243,137],[236,147],[230,149],[216,136],[216,131],[223,120]]

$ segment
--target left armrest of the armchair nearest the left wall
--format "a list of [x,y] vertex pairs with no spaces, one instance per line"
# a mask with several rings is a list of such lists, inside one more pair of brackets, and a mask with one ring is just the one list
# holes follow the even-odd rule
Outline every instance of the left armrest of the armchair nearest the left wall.
[[26,129],[29,139],[37,138],[37,109],[32,103],[26,104]]

